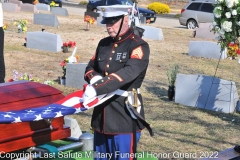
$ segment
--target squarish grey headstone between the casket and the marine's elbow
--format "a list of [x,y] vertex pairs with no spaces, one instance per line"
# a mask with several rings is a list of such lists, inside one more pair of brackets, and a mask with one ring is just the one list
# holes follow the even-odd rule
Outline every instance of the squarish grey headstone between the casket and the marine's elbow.
[[66,86],[82,89],[83,85],[87,83],[84,80],[87,63],[67,63],[66,67]]

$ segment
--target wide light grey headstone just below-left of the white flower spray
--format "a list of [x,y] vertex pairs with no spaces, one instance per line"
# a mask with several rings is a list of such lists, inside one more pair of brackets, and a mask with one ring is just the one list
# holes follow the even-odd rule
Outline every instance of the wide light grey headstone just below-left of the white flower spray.
[[227,58],[227,49],[221,52],[220,44],[210,41],[190,41],[189,56],[225,59]]

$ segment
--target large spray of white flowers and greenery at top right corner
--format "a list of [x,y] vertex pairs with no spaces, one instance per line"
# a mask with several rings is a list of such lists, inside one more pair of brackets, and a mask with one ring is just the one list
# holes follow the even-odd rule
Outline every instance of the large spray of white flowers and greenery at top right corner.
[[[238,0],[216,0],[213,10],[214,20],[211,31],[219,34],[218,42],[221,49],[232,50],[238,45],[240,35],[240,3]],[[236,47],[234,47],[236,48]],[[237,51],[236,49],[234,49]],[[236,55],[236,52],[228,52],[228,56]]]

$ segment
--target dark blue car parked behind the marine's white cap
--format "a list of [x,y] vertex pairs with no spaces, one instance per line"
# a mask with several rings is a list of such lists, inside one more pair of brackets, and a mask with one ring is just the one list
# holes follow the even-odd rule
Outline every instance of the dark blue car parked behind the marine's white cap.
[[[89,0],[87,4],[87,12],[97,12],[98,6],[109,6],[109,5],[133,5],[131,0]],[[150,20],[150,23],[154,23],[156,21],[155,12],[145,9],[138,8],[140,16],[146,17],[146,20]]]

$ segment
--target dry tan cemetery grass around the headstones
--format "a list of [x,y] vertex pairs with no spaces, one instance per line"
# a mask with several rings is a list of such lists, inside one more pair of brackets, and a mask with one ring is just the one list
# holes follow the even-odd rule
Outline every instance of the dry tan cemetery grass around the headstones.
[[[17,33],[17,27],[13,25],[13,22],[19,19],[29,22],[29,32],[41,31],[44,28],[46,32],[59,34],[63,42],[75,41],[78,47],[76,55],[80,57],[79,63],[87,63],[95,53],[99,40],[108,36],[105,27],[97,25],[92,26],[90,31],[85,31],[83,15],[58,16],[60,27],[49,27],[33,24],[33,13],[4,12],[4,22],[9,24],[5,32],[4,48],[6,81],[12,78],[13,70],[32,74],[34,78],[40,79],[40,83],[56,80],[62,76],[61,61],[69,57],[73,50],[69,53],[53,53],[24,47],[26,33]],[[240,144],[238,113],[224,114],[201,110],[168,100],[166,72],[173,64],[179,65],[179,73],[214,75],[218,60],[188,56],[189,41],[203,39],[192,38],[192,31],[185,28],[150,25],[161,28],[164,35],[163,41],[145,39],[150,45],[151,55],[141,93],[145,118],[151,124],[155,136],[150,137],[147,130],[143,130],[138,150],[156,154],[194,153],[204,156]],[[236,82],[240,95],[239,68],[238,59],[221,60],[216,77]],[[63,91],[64,95],[78,90],[57,83],[53,87]],[[83,131],[90,131],[91,113],[92,110],[89,110],[70,117],[78,120]]]

